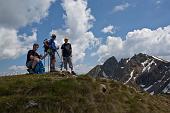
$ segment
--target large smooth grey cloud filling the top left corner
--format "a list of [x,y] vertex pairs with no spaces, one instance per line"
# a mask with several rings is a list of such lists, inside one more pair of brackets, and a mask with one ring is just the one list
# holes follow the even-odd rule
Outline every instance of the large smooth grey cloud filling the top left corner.
[[39,22],[48,15],[48,9],[55,0],[1,0],[0,26],[20,28]]

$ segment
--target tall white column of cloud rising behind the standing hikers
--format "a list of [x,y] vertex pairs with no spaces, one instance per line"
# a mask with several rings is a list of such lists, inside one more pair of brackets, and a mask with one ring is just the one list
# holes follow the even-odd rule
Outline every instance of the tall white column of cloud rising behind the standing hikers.
[[82,61],[86,50],[99,43],[98,39],[90,31],[95,18],[87,7],[87,0],[63,0],[62,7],[65,10],[64,30],[53,30],[57,34],[57,41],[63,42],[65,36],[69,37],[73,48],[73,61]]

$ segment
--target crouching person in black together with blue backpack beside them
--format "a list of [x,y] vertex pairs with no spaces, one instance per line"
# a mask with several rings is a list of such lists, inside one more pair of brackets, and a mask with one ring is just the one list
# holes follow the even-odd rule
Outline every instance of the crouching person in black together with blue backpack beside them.
[[[39,55],[36,51],[39,48],[39,45],[35,43],[33,45],[33,49],[28,51],[27,54],[27,61],[26,61],[26,67],[28,68],[27,71],[30,74],[33,73],[43,73],[44,72],[44,67],[41,62],[41,55]],[[37,65],[38,64],[38,65]],[[37,68],[36,68],[37,66]]]

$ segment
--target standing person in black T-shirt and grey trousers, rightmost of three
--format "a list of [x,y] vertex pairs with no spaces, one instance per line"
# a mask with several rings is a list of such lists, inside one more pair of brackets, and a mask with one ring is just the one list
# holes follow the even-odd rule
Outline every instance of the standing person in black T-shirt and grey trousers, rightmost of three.
[[62,50],[62,58],[63,58],[63,63],[64,63],[64,69],[67,71],[67,64],[69,64],[69,68],[71,69],[72,74],[76,74],[73,71],[73,64],[72,64],[72,47],[71,44],[68,43],[68,38],[64,38],[64,44],[61,46]]

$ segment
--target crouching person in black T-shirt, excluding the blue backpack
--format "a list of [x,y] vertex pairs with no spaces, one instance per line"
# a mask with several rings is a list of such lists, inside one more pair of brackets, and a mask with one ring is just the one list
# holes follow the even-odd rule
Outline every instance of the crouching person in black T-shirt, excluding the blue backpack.
[[33,73],[33,69],[36,64],[40,61],[41,55],[39,55],[36,51],[39,48],[39,45],[35,43],[33,45],[33,49],[29,50],[27,53],[26,67],[30,73]]

